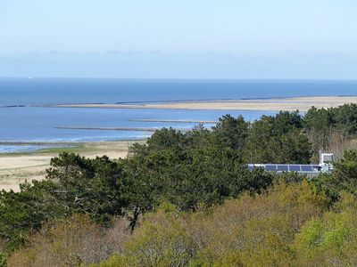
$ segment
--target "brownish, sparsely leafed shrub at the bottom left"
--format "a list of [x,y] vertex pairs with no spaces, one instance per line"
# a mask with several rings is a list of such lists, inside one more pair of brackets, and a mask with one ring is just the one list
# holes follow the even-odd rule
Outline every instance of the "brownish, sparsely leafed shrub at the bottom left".
[[[115,232],[115,239],[112,233]],[[129,231],[121,223],[109,231],[91,223],[86,215],[74,214],[62,223],[44,228],[32,237],[29,247],[15,252],[8,266],[78,266],[100,263],[120,251]]]

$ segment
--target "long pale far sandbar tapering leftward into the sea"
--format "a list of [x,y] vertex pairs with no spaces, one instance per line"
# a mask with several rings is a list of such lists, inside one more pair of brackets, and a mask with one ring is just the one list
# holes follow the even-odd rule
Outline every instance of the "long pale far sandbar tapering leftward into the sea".
[[332,108],[346,103],[357,103],[357,96],[295,97],[252,100],[182,101],[146,104],[59,104],[62,108],[101,109],[211,109],[211,110],[265,110],[307,111],[316,108]]

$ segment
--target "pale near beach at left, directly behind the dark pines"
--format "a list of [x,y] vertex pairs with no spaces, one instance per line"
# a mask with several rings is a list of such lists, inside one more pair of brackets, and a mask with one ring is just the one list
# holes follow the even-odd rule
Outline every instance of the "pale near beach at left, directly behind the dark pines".
[[[79,148],[72,148],[71,151],[87,158],[104,155],[109,158],[125,158],[133,143],[134,141],[88,142]],[[21,182],[44,179],[51,158],[57,157],[60,150],[0,155],[0,190],[18,191]]]

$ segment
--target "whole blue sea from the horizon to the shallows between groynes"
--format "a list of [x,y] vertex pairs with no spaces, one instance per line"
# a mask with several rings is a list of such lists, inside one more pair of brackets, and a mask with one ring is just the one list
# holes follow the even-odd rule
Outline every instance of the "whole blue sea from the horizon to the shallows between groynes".
[[[50,104],[130,103],[357,95],[357,81],[0,78],[0,153],[43,149],[31,142],[139,140],[152,132],[71,127],[191,129],[230,114],[255,120],[277,111],[54,108]],[[145,121],[151,120],[151,121]],[[163,120],[163,122],[160,122]],[[205,126],[211,127],[212,123]],[[64,127],[64,128],[63,128]],[[67,127],[67,128],[66,128]],[[9,142],[13,142],[9,144]],[[20,145],[21,143],[27,145]]]

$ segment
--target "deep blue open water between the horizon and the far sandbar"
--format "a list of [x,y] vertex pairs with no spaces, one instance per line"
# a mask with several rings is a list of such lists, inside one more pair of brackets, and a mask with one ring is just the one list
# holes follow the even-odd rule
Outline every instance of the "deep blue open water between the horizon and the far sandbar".
[[356,94],[357,81],[0,78],[0,106]]

